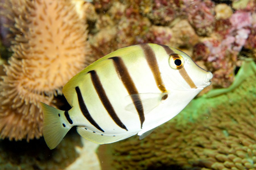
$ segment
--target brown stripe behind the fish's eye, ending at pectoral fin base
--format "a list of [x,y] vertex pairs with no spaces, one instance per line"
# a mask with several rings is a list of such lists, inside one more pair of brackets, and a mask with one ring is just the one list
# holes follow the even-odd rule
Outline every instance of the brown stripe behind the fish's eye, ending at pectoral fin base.
[[156,55],[155,55],[153,49],[148,44],[138,44],[138,45],[141,46],[141,48],[143,49],[144,56],[146,58],[148,66],[150,67],[150,69],[151,69],[151,71],[153,73],[153,76],[154,76],[154,79],[156,81],[157,87],[162,92],[166,92],[166,88],[165,88],[163,80],[161,78],[161,73],[160,73],[160,70],[159,70],[159,65],[157,63]]

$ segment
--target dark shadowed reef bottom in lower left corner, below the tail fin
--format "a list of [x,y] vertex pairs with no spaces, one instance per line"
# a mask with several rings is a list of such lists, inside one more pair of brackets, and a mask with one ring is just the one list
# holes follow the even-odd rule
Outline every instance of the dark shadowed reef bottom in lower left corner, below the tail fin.
[[[75,129],[74,129],[75,130]],[[68,133],[61,144],[49,150],[44,139],[26,141],[0,141],[1,170],[59,170],[66,169],[80,156],[82,147],[77,133]]]

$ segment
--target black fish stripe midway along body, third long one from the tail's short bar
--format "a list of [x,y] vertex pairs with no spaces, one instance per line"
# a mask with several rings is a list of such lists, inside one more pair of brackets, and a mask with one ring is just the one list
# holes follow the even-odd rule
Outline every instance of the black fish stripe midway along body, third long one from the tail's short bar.
[[110,115],[110,117],[113,119],[113,121],[120,127],[125,129],[126,131],[128,131],[128,129],[126,128],[126,126],[121,122],[121,120],[119,119],[119,117],[117,116],[117,114],[115,113],[114,108],[112,107],[106,92],[104,90],[104,88],[102,87],[102,84],[100,82],[100,78],[98,77],[96,71],[92,70],[89,71],[88,73],[91,74],[91,80],[92,80],[92,84],[100,98],[100,101],[102,102],[102,105],[105,107],[106,111],[108,112],[108,114]]

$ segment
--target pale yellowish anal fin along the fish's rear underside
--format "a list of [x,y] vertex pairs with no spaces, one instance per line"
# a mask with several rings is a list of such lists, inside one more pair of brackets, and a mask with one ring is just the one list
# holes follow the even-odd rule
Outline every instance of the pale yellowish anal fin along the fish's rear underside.
[[90,129],[85,129],[84,127],[77,127],[77,132],[84,139],[97,144],[106,144],[106,143],[121,141],[123,139],[126,139],[136,134],[136,133],[129,133],[129,134],[126,133],[121,135],[108,135],[104,133],[93,132]]

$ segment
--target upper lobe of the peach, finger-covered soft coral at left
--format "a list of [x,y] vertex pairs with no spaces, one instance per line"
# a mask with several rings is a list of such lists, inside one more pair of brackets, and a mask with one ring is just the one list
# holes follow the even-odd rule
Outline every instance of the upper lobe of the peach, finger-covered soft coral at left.
[[85,67],[86,24],[68,2],[36,1],[34,5],[24,35],[29,48],[21,47],[26,75],[22,81],[35,91],[61,94],[65,83]]

